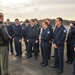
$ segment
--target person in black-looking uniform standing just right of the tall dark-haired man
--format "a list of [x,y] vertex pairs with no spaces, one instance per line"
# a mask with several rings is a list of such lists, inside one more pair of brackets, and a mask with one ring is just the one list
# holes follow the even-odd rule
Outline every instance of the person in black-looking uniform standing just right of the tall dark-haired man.
[[[72,23],[72,27],[70,29],[70,32],[69,32],[69,36],[68,36],[68,39],[70,40],[70,57],[69,57],[69,62],[68,64],[72,64],[73,61],[74,61],[74,43],[75,43],[75,24]],[[69,41],[68,41],[69,42]]]

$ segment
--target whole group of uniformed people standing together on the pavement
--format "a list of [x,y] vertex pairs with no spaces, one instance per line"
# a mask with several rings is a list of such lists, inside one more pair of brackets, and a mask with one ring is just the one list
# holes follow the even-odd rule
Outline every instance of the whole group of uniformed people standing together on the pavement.
[[[0,13],[0,55],[2,55],[1,59],[3,62],[3,64],[0,64],[0,75],[8,75],[8,51],[10,50],[11,54],[14,55],[13,42],[15,45],[16,52],[15,57],[22,58],[22,39],[25,42],[25,55],[27,58],[31,58],[32,53],[34,53],[35,60],[37,60],[38,55],[40,53],[40,46],[42,55],[42,62],[40,64],[42,65],[42,67],[48,65],[48,61],[51,58],[51,47],[53,43],[54,64],[51,65],[51,68],[57,68],[58,74],[63,73],[64,43],[66,39],[67,30],[63,25],[63,19],[61,17],[55,19],[54,29],[52,29],[50,19],[48,18],[46,18],[42,22],[42,25],[38,24],[37,19],[26,19],[22,25],[20,25],[19,19],[15,19],[14,25],[11,24],[10,19],[7,19],[5,26],[3,26],[3,17],[3,14]],[[75,23],[71,23],[71,27],[66,40],[66,45],[66,63],[71,64],[74,61],[75,75]],[[2,68],[4,66],[5,68]]]

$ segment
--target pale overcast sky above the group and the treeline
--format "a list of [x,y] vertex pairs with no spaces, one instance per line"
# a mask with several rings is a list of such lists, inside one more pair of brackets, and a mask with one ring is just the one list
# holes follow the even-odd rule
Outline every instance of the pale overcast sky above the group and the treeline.
[[5,19],[51,18],[75,20],[75,0],[0,0]]

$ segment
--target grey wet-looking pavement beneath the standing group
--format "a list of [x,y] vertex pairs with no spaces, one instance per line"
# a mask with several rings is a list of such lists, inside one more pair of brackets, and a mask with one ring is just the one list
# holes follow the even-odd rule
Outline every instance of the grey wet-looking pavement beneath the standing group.
[[[64,57],[65,61],[66,56]],[[41,67],[41,61],[41,54],[39,55],[38,60],[35,60],[34,56],[27,59],[25,56],[25,51],[23,51],[22,59],[9,55],[9,72],[13,73],[14,75],[57,75],[57,69],[50,68],[50,65],[54,62],[54,58],[51,58],[47,67]],[[73,65],[64,64],[64,73],[61,75],[72,75],[72,72]]]

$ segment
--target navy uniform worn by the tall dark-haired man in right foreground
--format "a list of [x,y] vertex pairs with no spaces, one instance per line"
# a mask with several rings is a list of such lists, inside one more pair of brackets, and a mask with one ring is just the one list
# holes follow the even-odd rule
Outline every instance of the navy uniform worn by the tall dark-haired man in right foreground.
[[60,71],[63,71],[63,55],[64,55],[64,42],[66,38],[67,30],[63,25],[56,27],[54,30],[53,43],[56,44],[57,48],[54,49],[54,66],[57,67]]

